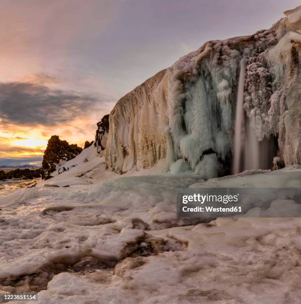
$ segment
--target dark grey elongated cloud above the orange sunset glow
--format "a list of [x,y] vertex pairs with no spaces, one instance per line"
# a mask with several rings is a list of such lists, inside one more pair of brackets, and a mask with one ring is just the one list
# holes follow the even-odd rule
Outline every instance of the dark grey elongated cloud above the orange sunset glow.
[[51,89],[40,83],[0,83],[2,125],[60,125],[92,113],[105,102],[91,95]]

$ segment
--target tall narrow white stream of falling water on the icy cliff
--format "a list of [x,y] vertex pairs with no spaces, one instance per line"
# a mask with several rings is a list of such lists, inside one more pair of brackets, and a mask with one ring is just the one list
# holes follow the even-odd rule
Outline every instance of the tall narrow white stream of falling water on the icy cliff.
[[244,76],[245,76],[245,57],[241,58],[241,71],[239,78],[237,102],[236,102],[236,114],[235,114],[235,135],[234,135],[234,164],[233,174],[240,172],[241,168],[241,151],[243,140],[243,88],[244,88]]

